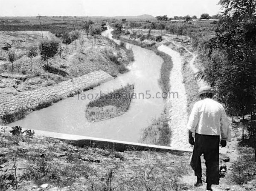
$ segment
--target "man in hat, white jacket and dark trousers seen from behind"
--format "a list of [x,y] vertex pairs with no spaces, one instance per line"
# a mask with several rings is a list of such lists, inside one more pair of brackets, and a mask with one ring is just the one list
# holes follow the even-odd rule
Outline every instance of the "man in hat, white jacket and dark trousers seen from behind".
[[219,184],[219,144],[225,147],[231,138],[227,114],[220,103],[212,100],[213,95],[214,91],[209,86],[199,89],[201,100],[195,103],[187,125],[189,144],[194,145],[190,165],[197,177],[195,186],[202,185],[200,157],[204,154],[207,190],[210,191],[212,184]]

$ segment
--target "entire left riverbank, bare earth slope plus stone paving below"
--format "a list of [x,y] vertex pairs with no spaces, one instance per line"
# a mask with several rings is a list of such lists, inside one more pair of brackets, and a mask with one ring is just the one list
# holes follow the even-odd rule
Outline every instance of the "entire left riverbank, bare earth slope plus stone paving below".
[[[0,39],[15,42],[15,52],[19,54],[14,62],[13,78],[10,63],[0,65],[0,98],[3,100],[0,103],[0,124],[20,120],[32,111],[111,80],[127,72],[127,65],[134,61],[133,52],[125,46],[120,46],[107,37],[99,37],[95,43],[92,38],[85,38],[81,31],[81,47],[75,49],[71,44],[64,46],[60,43],[63,49],[48,60],[47,68],[41,57],[36,56],[32,59],[32,74],[28,74],[28,45],[16,41],[23,37],[23,41],[29,46],[38,46],[39,34],[41,33],[38,31],[0,33]],[[49,39],[55,39],[50,32],[47,35]],[[6,56],[1,59],[6,60]]]

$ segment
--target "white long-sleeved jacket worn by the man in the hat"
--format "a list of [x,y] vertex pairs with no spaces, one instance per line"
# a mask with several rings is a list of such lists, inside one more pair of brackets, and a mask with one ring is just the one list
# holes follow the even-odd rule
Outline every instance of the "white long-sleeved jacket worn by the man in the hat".
[[230,141],[231,132],[223,106],[206,98],[195,103],[187,125],[192,133],[221,135],[221,140]]

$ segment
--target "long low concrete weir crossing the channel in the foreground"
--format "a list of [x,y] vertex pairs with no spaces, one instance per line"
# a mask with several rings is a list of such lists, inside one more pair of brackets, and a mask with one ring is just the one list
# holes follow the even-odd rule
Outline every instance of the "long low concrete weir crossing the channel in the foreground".
[[[7,127],[6,131],[11,130],[11,127],[2,126],[0,128]],[[26,128],[22,128],[23,131]],[[33,130],[33,129],[32,129]],[[113,148],[116,151],[125,151],[125,150],[136,150],[136,151],[159,151],[159,152],[171,152],[173,154],[180,153],[180,152],[191,152],[190,149],[177,149],[167,146],[160,146],[160,145],[147,145],[143,143],[132,143],[126,141],[117,141],[117,140],[110,140],[110,139],[102,139],[102,138],[94,138],[94,137],[86,137],[80,135],[73,135],[73,134],[63,134],[63,133],[55,133],[50,131],[41,131],[41,130],[33,130],[35,131],[36,137],[50,137],[55,138],[61,141],[65,141],[67,143],[76,145],[76,146],[94,146],[98,148]]]

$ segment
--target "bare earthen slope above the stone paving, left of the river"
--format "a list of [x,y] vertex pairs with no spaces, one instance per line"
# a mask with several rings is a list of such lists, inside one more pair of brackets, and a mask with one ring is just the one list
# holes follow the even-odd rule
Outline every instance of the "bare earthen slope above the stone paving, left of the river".
[[[54,72],[45,71],[46,62],[38,55],[32,59],[32,75],[30,75],[27,48],[38,46],[42,39],[41,35],[41,31],[0,31],[0,42],[11,44],[18,57],[13,63],[14,78],[11,79],[11,63],[7,60],[8,51],[0,50],[0,97],[10,97],[38,87],[53,86],[61,81],[97,70],[103,70],[116,77],[119,68],[111,58],[116,57],[120,63],[127,63],[127,56],[122,48],[116,48],[103,37],[94,43],[92,38],[88,39],[87,35],[82,34],[83,46],[79,44],[79,40],[68,46],[60,44],[64,51],[61,55],[49,59],[48,63]],[[56,39],[48,31],[43,31],[43,36],[44,39]]]

